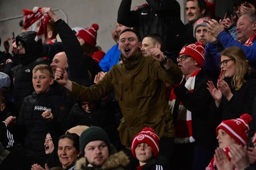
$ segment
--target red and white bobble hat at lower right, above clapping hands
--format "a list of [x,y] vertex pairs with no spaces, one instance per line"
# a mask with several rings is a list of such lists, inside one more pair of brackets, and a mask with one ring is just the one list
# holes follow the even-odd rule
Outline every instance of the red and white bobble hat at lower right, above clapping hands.
[[239,145],[247,145],[249,123],[252,122],[252,116],[249,114],[243,114],[239,119],[225,120],[218,125],[216,128],[216,133],[218,135],[218,130],[222,129],[230,137],[232,137]]

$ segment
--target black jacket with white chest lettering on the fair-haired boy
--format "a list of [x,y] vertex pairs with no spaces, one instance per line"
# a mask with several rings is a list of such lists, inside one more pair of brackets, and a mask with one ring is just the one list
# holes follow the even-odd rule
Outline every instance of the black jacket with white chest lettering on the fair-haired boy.
[[[16,131],[20,134],[20,141],[26,149],[33,152],[38,159],[45,158],[44,139],[49,131],[52,138],[65,133],[66,107],[64,100],[53,90],[27,96],[22,104],[20,115],[16,123]],[[46,110],[52,112],[54,119],[43,119],[42,113]]]

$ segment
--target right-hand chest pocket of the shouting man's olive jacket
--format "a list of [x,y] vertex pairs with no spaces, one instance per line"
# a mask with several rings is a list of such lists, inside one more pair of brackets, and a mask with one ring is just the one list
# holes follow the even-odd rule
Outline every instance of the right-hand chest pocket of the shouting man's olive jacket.
[[151,96],[148,76],[140,76],[134,79],[134,92],[137,98]]

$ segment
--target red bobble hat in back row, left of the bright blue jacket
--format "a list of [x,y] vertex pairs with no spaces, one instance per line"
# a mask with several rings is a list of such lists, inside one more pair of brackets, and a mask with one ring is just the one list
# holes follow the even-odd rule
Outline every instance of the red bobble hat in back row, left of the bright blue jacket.
[[98,29],[99,25],[97,23],[93,23],[91,27],[86,27],[85,29],[79,30],[76,33],[76,37],[81,37],[86,43],[95,46]]

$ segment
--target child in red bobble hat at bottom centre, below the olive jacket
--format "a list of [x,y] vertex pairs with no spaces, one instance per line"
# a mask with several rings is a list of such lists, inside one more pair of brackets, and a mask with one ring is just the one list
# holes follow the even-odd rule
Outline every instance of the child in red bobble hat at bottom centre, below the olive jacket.
[[165,158],[158,157],[160,138],[150,127],[145,127],[132,140],[132,155],[140,165],[137,170],[166,170]]

